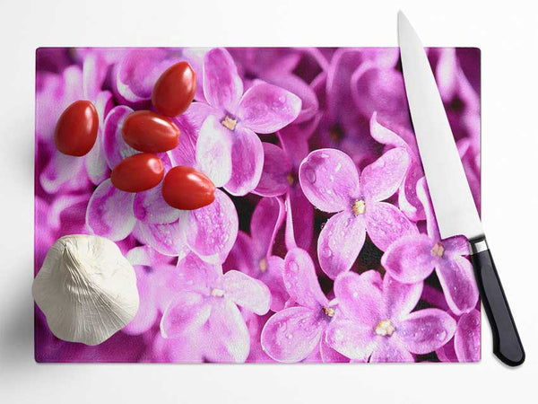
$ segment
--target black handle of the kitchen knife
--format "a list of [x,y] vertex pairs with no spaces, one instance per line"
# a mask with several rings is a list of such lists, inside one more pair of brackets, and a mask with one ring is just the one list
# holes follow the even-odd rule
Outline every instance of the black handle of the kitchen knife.
[[469,244],[476,283],[490,321],[493,353],[508,366],[523,364],[525,350],[517,333],[516,323],[510,312],[486,239],[482,237],[469,240]]

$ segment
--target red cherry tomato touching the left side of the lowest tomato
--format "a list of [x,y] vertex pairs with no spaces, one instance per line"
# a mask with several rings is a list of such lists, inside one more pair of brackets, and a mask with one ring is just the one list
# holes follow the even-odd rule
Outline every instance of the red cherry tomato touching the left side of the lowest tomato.
[[161,159],[155,154],[141,153],[127,157],[110,173],[110,180],[126,192],[141,192],[159,185],[164,176]]

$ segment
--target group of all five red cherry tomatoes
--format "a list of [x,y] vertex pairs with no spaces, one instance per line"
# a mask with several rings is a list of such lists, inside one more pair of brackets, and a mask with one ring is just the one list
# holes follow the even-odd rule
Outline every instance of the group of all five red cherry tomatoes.
[[[164,175],[157,153],[178,146],[180,131],[169,117],[177,117],[195,97],[196,75],[187,62],[170,66],[153,86],[152,110],[131,113],[122,127],[127,145],[142,152],[127,157],[110,173],[117,189],[141,192],[161,183],[162,197],[169,206],[192,210],[214,200],[213,182],[192,167],[177,166]],[[56,124],[55,142],[63,154],[82,156],[90,152],[97,139],[99,117],[90,101],[75,101],[67,107]]]

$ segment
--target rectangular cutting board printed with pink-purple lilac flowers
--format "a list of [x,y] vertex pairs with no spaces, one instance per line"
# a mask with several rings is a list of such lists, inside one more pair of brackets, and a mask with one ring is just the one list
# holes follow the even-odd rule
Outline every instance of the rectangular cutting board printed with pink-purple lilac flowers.
[[[480,206],[480,54],[430,63]],[[116,189],[136,151],[121,129],[186,60],[195,102],[176,149],[214,202],[181,211],[161,187]],[[40,48],[35,267],[69,233],[117,242],[140,309],[97,347],[61,341],[36,308],[41,362],[471,362],[478,292],[464,238],[441,240],[396,48]],[[100,116],[90,154],[54,146],[70,103]]]

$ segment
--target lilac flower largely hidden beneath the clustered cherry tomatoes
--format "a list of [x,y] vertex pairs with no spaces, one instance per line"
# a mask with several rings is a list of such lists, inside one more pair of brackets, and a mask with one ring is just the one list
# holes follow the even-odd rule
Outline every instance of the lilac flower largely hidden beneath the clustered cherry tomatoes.
[[[128,107],[116,107],[105,122],[103,144],[111,169],[136,153],[121,136],[121,127],[131,111]],[[169,154],[159,154],[167,171],[172,165],[191,165],[194,161],[194,129],[184,117],[175,121],[181,130],[178,148]],[[223,262],[236,240],[239,226],[230,198],[217,189],[211,205],[181,211],[164,201],[161,187],[162,184],[132,194],[116,189],[110,180],[103,181],[88,206],[89,228],[114,241],[133,233],[140,242],[164,255],[183,256],[192,250],[206,261]]]

